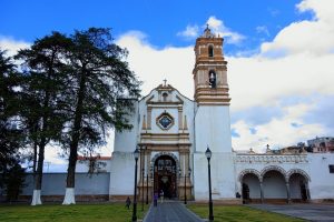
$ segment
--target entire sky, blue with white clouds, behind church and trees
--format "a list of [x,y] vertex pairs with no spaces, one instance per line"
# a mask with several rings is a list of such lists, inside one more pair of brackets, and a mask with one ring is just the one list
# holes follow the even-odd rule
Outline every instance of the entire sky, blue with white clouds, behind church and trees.
[[[143,95],[166,78],[194,98],[194,44],[209,24],[224,37],[234,150],[334,137],[333,0],[1,0],[0,8],[8,54],[53,30],[111,28]],[[112,140],[110,131],[104,155]],[[63,163],[56,148],[48,150],[53,169]]]

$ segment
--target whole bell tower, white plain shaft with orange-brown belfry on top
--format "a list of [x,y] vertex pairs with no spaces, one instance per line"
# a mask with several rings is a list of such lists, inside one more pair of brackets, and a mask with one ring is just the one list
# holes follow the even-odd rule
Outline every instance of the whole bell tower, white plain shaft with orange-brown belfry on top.
[[207,27],[195,46],[194,192],[199,200],[207,199],[207,180],[204,178],[207,176],[205,151],[208,147],[212,150],[213,199],[237,202],[230,139],[230,98],[223,41]]

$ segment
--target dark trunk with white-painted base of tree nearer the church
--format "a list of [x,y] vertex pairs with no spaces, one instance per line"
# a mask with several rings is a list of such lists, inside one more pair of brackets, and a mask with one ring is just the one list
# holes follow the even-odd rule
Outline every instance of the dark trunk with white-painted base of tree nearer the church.
[[75,111],[72,137],[70,142],[70,155],[69,155],[69,162],[67,169],[66,193],[62,202],[62,204],[65,205],[76,204],[76,199],[75,199],[76,164],[78,159],[78,144],[80,138],[81,121],[82,121],[85,84],[86,84],[86,78],[85,78],[85,72],[82,72],[79,93],[78,93],[78,103]]

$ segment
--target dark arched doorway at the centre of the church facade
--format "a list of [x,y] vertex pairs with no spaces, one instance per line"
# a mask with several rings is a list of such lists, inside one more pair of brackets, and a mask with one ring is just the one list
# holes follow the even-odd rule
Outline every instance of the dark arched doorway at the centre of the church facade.
[[177,196],[176,188],[176,162],[169,155],[161,155],[155,162],[154,168],[154,192],[173,199]]

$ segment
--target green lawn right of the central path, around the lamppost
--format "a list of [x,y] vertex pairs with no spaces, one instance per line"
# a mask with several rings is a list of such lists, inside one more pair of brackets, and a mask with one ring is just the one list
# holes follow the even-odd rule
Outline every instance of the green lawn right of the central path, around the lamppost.
[[[203,219],[208,218],[208,206],[189,204],[188,209]],[[252,209],[244,205],[214,205],[215,222],[302,222],[304,220]]]

